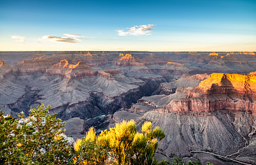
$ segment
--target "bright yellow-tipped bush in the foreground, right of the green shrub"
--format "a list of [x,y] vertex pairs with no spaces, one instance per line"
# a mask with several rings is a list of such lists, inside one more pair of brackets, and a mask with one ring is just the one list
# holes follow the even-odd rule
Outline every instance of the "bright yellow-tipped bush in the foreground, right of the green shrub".
[[[157,164],[154,160],[157,143],[165,134],[159,127],[152,130],[151,122],[145,122],[142,129],[143,133],[137,132],[134,120],[116,123],[115,127],[110,128],[109,131],[102,131],[98,136],[95,135],[94,129],[90,128],[86,138],[77,140],[74,148],[84,150],[90,141],[95,141],[98,147],[104,148],[104,153],[108,153],[104,155],[105,161],[101,161],[102,164]],[[75,159],[78,161],[78,157]],[[100,157],[97,159],[99,160]],[[95,164],[95,162],[81,161],[80,164]]]

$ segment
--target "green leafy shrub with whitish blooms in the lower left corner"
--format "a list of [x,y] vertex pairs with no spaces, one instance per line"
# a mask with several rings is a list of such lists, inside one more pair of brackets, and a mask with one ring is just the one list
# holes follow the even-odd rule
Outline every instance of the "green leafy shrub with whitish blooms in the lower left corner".
[[[31,108],[29,117],[18,119],[0,113],[0,155],[4,164],[60,164],[71,157],[71,138],[63,134],[63,122],[56,114],[48,115],[50,106]],[[70,144],[68,144],[68,142]]]

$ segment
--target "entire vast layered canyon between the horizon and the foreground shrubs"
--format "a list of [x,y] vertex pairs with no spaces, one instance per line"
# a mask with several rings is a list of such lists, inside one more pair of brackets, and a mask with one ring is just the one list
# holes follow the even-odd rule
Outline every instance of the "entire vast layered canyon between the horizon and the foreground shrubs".
[[160,158],[256,164],[255,71],[255,52],[0,52],[0,108],[51,104],[74,139],[150,121]]

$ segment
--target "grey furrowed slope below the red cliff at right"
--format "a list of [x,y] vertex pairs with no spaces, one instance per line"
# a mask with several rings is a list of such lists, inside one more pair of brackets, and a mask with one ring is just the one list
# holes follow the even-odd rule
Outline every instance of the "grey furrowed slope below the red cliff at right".
[[236,160],[256,163],[255,114],[222,110],[212,113],[117,111],[113,115],[115,122],[127,119],[135,120],[138,127],[145,121],[161,127],[166,137],[160,141],[158,152],[168,157],[181,156],[203,164],[239,164]]

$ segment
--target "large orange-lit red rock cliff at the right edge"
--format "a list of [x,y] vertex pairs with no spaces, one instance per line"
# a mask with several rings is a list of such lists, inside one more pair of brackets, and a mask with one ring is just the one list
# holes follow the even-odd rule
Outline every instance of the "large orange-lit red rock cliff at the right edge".
[[170,111],[214,112],[241,110],[256,113],[256,75],[212,73],[198,87],[177,89],[186,98],[172,100],[159,109]]

